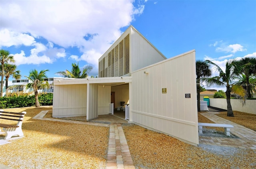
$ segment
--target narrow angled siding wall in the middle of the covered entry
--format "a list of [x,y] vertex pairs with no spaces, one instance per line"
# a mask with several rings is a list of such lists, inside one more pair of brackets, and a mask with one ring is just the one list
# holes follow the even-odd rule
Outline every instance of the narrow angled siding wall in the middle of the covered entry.
[[98,117],[98,84],[88,84],[87,91],[86,120],[92,120]]

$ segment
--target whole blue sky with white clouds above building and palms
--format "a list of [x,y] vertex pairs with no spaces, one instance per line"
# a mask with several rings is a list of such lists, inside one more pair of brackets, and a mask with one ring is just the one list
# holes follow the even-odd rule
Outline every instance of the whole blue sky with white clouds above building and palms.
[[255,0],[0,1],[0,48],[22,79],[31,69],[58,77],[77,62],[96,76],[98,59],[130,25],[167,58],[195,49],[197,60],[224,67],[256,57]]

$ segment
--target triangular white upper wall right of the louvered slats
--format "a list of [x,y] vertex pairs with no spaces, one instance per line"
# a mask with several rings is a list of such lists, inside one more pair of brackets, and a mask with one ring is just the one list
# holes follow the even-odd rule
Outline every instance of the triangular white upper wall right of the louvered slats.
[[131,72],[158,63],[166,58],[134,28],[130,35]]

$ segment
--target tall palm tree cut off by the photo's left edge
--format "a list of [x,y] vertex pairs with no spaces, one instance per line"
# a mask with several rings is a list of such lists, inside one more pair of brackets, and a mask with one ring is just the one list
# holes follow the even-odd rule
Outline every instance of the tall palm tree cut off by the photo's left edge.
[[0,97],[3,96],[3,86],[4,86],[4,63],[14,63],[14,57],[10,55],[9,51],[0,50],[0,63],[1,63],[1,86],[0,86]]

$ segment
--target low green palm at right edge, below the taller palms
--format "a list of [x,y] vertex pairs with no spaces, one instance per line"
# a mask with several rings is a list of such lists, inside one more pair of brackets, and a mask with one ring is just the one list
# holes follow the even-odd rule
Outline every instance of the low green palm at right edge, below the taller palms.
[[[237,80],[236,83],[234,83],[235,85],[240,85],[243,86],[244,90],[246,90],[246,86],[247,86],[247,78],[246,75],[241,74],[238,77],[235,77],[234,79]],[[250,76],[249,77],[249,86],[250,86],[250,94],[252,96],[252,93],[255,92],[256,93],[256,77],[254,76]]]

